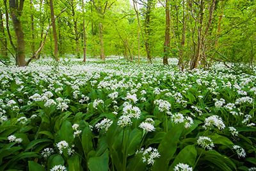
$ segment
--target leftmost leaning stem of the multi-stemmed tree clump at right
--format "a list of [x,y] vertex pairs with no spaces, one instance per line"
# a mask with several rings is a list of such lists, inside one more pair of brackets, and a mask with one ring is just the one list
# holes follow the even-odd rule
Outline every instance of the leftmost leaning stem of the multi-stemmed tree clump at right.
[[196,47],[196,54],[191,60],[190,70],[193,70],[194,68],[198,67],[200,56],[202,52],[202,26],[203,26],[203,20],[204,20],[204,0],[200,0],[200,12],[199,12],[200,20],[199,20],[199,26],[198,26],[198,42]]

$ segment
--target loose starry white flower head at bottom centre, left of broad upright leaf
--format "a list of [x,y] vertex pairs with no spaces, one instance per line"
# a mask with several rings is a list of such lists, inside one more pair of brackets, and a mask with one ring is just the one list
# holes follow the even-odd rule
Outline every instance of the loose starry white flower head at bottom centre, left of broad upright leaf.
[[140,151],[136,151],[136,154],[142,153],[142,161],[143,163],[147,163],[148,165],[154,165],[155,159],[160,157],[157,149],[148,147],[147,149],[141,148]]

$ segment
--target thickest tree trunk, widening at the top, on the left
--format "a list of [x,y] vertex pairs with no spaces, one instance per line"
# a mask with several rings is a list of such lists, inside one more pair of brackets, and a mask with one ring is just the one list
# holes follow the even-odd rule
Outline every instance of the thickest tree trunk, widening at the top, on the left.
[[[19,3],[19,4],[18,4]],[[13,22],[13,27],[17,39],[17,65],[18,66],[25,66],[26,60],[25,60],[25,40],[24,40],[24,33],[22,30],[22,26],[20,23],[20,16],[22,14],[24,5],[24,0],[15,1],[15,0],[9,0],[9,6],[11,11],[11,17]]]

